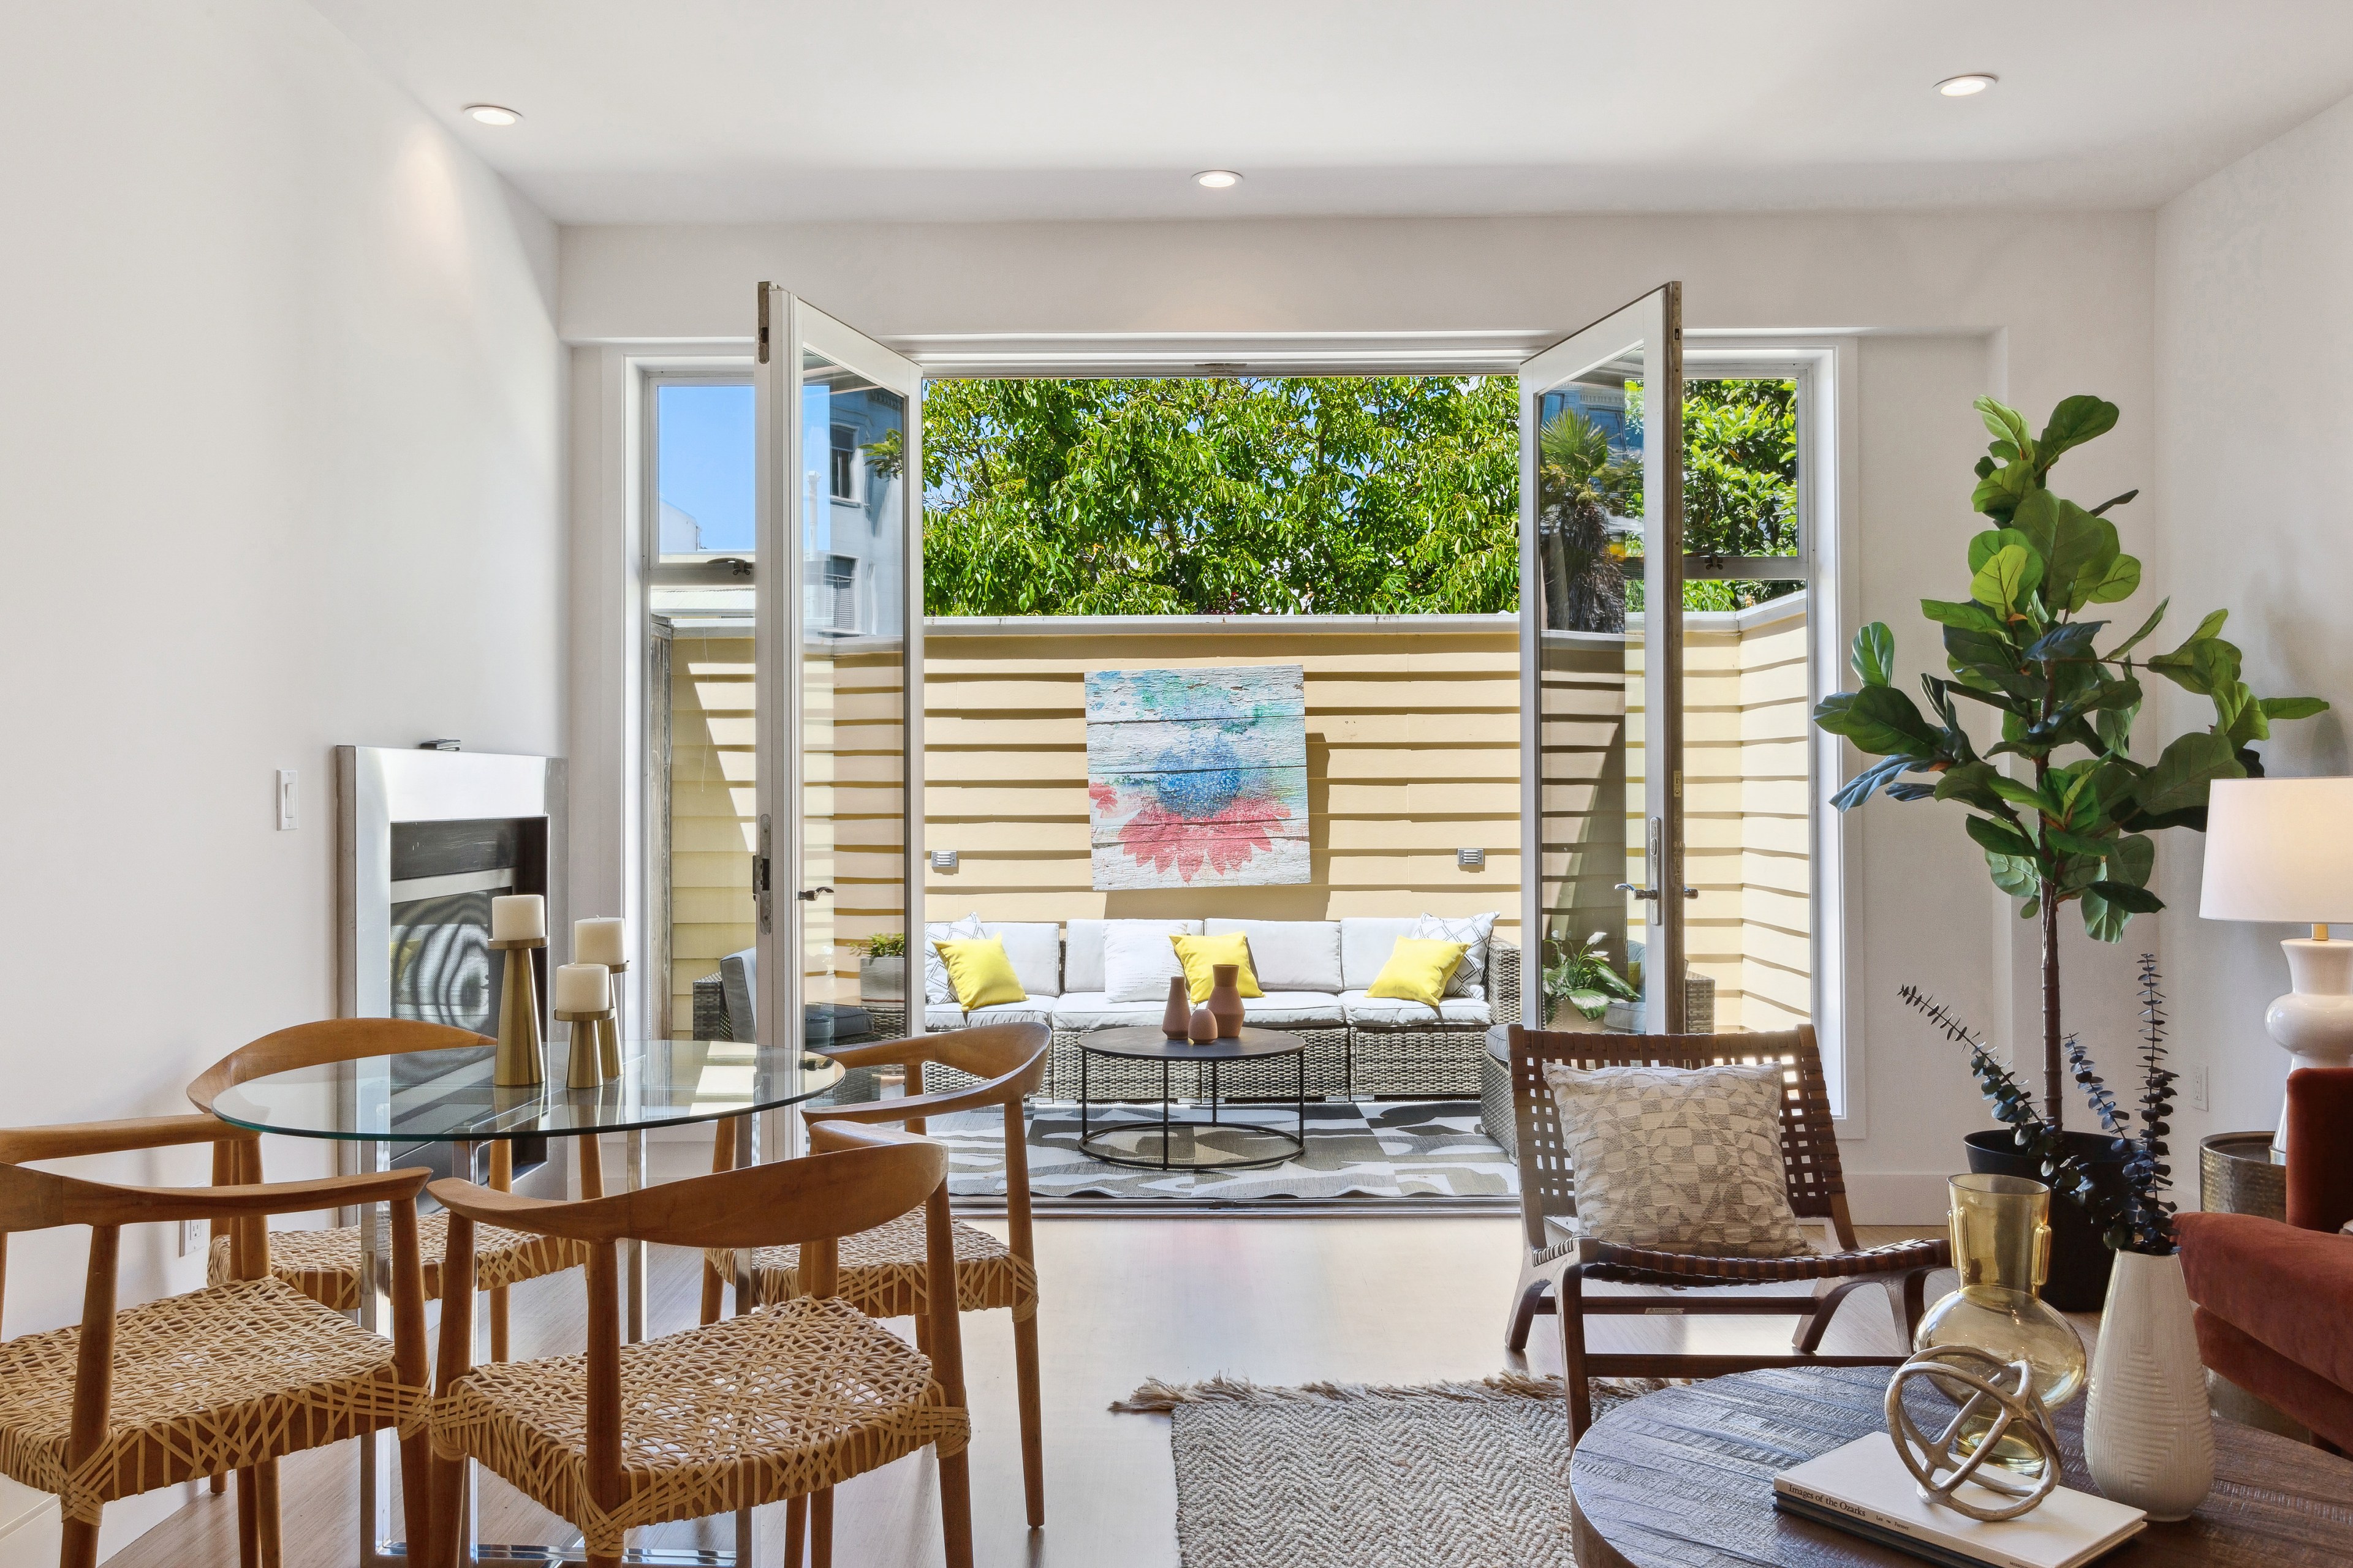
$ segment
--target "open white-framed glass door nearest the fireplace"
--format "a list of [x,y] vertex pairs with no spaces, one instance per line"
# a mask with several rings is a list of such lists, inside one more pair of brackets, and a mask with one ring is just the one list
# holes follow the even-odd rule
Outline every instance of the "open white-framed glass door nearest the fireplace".
[[[922,1030],[922,378],[760,284],[755,1018],[824,1048]],[[871,980],[878,936],[911,983]],[[899,994],[887,994],[899,992]]]

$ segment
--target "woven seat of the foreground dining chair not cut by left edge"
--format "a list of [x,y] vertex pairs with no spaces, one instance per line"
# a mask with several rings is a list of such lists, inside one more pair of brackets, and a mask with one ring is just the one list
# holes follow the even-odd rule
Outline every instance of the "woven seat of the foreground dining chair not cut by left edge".
[[579,1526],[593,1556],[619,1556],[635,1526],[800,1497],[972,1436],[932,1361],[838,1298],[624,1345],[612,1512],[588,1493],[586,1432],[586,1356],[478,1366],[433,1408],[435,1455],[473,1455]]

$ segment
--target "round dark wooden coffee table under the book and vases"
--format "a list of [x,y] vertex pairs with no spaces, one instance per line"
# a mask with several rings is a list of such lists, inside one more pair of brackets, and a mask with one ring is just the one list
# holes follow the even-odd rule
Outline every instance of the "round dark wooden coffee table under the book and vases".
[[[1772,1507],[1772,1479],[1885,1432],[1885,1366],[1734,1373],[1628,1401],[1569,1460],[1577,1568],[1918,1568],[1920,1559]],[[1934,1394],[1920,1392],[1934,1403]],[[1927,1406],[1922,1406],[1927,1408]],[[2082,1467],[2082,1401],[2059,1410],[2066,1486]],[[2271,1432],[2214,1422],[2214,1490],[2153,1523],[2101,1568],[2353,1563],[2353,1465]]]

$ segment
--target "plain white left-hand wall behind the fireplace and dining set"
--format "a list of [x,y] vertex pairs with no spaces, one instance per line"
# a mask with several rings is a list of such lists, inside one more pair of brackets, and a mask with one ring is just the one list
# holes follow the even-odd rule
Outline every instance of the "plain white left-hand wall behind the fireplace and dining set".
[[562,750],[555,230],[299,0],[12,7],[0,146],[0,1114],[184,1112],[334,1013],[332,745]]

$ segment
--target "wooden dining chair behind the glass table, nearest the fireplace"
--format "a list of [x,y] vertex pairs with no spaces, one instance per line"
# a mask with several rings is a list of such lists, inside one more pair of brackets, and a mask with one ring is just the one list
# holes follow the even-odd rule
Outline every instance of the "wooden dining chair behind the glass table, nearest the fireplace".
[[[416,1023],[414,1018],[329,1018],[322,1023],[299,1023],[289,1030],[278,1030],[275,1034],[264,1034],[261,1039],[238,1046],[212,1067],[207,1067],[193,1084],[188,1084],[188,1100],[198,1110],[212,1112],[214,1103],[228,1088],[245,1084],[249,1079],[268,1077],[273,1072],[289,1072],[294,1067],[318,1067],[325,1063],[351,1063],[362,1056],[395,1056],[402,1051],[449,1051],[459,1046],[489,1046],[496,1044],[487,1034],[475,1034],[473,1030],[454,1030],[440,1023]],[[261,1180],[261,1143],[242,1140],[228,1150],[233,1161],[231,1168],[214,1168],[214,1180],[231,1182],[259,1182]],[[602,1194],[602,1166],[598,1164],[595,1138],[579,1140],[581,1154],[581,1190],[588,1197]],[[489,1145],[489,1185],[506,1190],[515,1180],[513,1145],[504,1138]],[[431,1213],[424,1215],[424,1253],[426,1253],[426,1300],[440,1300],[442,1295],[442,1253],[447,1251],[447,1218]],[[520,1286],[525,1279],[539,1279],[541,1274],[558,1274],[562,1269],[579,1267],[586,1258],[586,1248],[569,1241],[558,1241],[551,1237],[527,1237],[506,1229],[485,1229],[475,1234],[475,1281],[480,1291],[489,1291],[489,1359],[506,1361],[508,1342],[508,1286]],[[228,1279],[231,1251],[228,1237],[214,1227],[212,1237],[212,1279]],[[360,1227],[339,1225],[332,1229],[285,1229],[271,1237],[271,1274],[287,1281],[311,1300],[334,1307],[336,1312],[360,1309]]]

